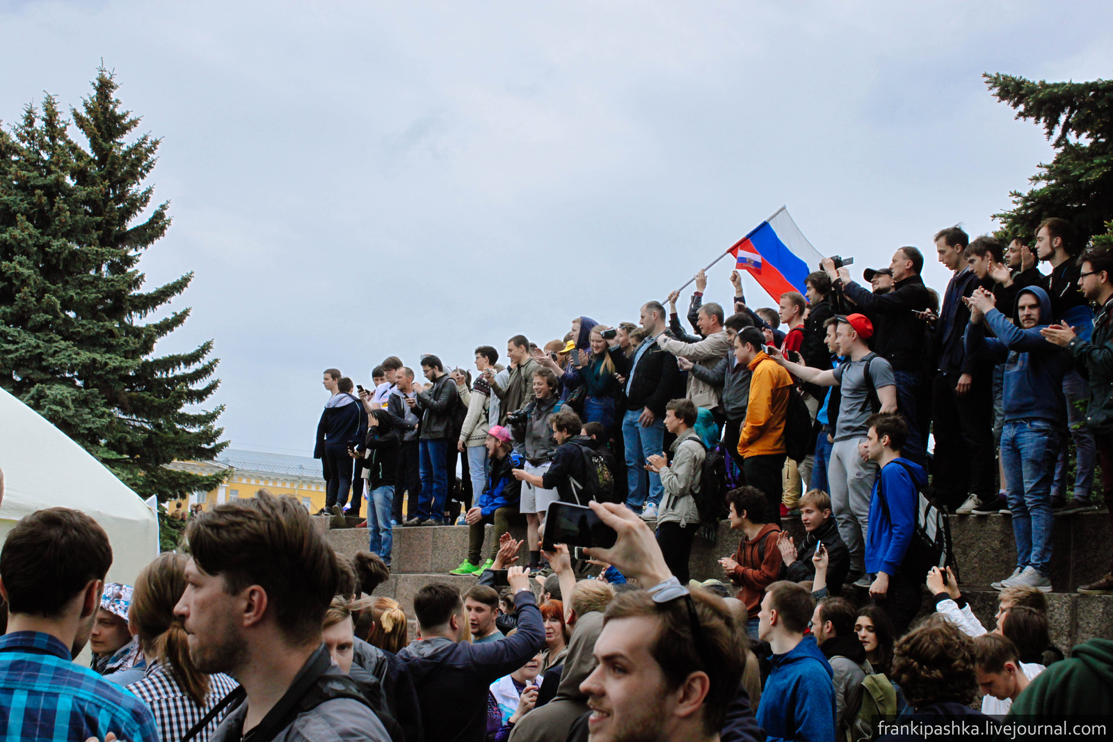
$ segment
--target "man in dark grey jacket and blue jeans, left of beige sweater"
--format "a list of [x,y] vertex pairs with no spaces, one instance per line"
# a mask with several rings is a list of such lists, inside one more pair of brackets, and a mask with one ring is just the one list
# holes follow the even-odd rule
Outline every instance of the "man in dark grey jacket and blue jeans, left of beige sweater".
[[449,439],[453,432],[453,412],[460,404],[456,382],[445,373],[436,355],[421,360],[421,370],[432,382],[405,403],[420,411],[421,420],[421,499],[417,512],[403,526],[443,526],[449,498]]

